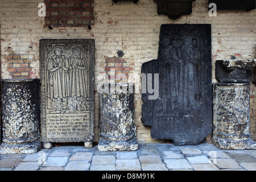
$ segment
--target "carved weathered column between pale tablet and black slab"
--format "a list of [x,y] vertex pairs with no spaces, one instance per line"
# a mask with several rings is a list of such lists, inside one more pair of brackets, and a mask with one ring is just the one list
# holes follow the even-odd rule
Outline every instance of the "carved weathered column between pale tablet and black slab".
[[134,85],[105,84],[100,94],[100,151],[138,149],[134,124]]

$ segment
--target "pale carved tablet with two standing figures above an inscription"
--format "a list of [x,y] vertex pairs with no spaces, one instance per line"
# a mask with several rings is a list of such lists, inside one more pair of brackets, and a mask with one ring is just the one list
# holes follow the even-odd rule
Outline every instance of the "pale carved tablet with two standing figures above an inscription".
[[92,142],[94,40],[40,40],[42,142]]

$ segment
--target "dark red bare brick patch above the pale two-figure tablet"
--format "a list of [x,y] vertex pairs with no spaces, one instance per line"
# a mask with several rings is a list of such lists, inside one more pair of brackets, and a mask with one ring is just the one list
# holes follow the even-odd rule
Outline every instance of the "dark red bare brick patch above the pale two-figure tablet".
[[44,0],[44,27],[86,27],[93,24],[93,0]]

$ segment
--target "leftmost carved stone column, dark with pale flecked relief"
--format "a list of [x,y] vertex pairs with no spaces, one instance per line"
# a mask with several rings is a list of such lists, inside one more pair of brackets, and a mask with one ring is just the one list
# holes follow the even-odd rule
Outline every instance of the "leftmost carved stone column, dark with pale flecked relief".
[[38,79],[2,80],[1,154],[32,154],[39,150],[39,90]]

